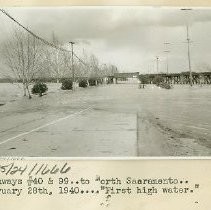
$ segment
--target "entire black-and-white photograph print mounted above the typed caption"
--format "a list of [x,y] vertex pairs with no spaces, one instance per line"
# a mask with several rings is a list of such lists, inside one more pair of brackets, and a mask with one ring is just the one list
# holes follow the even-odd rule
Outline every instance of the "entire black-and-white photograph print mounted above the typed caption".
[[0,156],[211,155],[211,8],[0,8]]

